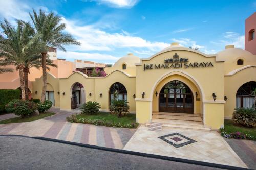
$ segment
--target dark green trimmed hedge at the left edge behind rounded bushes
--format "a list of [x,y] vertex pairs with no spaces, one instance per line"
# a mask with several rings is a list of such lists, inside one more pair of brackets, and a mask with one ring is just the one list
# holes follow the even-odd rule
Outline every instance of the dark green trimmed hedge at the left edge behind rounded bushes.
[[0,114],[5,113],[5,105],[13,99],[20,98],[20,90],[0,89]]

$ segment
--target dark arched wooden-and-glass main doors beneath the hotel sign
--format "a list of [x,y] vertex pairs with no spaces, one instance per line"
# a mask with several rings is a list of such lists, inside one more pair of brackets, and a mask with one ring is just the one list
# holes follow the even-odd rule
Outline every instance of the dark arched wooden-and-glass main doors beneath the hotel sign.
[[159,93],[159,112],[194,113],[194,99],[191,89],[179,80],[163,86]]

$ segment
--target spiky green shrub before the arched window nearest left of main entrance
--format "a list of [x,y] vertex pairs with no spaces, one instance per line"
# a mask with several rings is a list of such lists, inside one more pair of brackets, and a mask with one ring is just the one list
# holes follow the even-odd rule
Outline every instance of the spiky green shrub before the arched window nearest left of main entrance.
[[113,99],[110,105],[110,113],[122,117],[129,113],[129,106],[126,100]]

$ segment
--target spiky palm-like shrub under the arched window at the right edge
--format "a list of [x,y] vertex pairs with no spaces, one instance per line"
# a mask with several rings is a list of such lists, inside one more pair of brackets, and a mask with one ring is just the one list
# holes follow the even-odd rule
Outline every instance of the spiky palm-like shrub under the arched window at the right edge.
[[256,127],[256,110],[243,107],[234,109],[233,120],[242,126]]

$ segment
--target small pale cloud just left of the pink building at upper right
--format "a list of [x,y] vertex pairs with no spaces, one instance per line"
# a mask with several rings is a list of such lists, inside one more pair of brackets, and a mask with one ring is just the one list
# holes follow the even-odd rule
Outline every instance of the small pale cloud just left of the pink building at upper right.
[[212,44],[224,47],[225,45],[234,45],[236,48],[244,49],[244,35],[239,35],[236,32],[228,31],[223,33],[223,39],[219,41],[211,41]]

